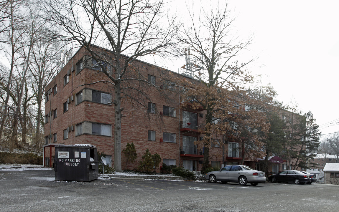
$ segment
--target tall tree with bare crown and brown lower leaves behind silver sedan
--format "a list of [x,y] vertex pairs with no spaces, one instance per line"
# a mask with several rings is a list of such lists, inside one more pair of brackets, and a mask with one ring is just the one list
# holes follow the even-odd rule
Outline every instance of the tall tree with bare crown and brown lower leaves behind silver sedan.
[[[213,100],[212,95],[224,88],[229,91],[241,90],[245,83],[253,79],[248,75],[245,66],[252,60],[239,64],[236,60],[239,52],[244,50],[251,42],[251,38],[246,41],[237,41],[232,35],[233,18],[230,11],[225,6],[215,5],[201,6],[201,10],[196,16],[196,10],[190,10],[191,27],[184,27],[180,40],[186,45],[188,55],[198,70],[193,73],[193,77],[206,83],[208,90],[201,90],[203,93],[200,97],[195,96],[196,102],[201,105],[207,112],[206,114],[206,130],[204,137],[204,162],[203,170],[209,166],[209,147],[212,142],[210,123],[214,120],[214,108],[223,107],[224,111],[233,111],[236,100],[227,104],[225,101]],[[198,91],[197,91],[198,92]],[[234,92],[239,93],[238,91]],[[223,93],[224,94],[224,93]],[[187,92],[187,100],[192,99],[194,93]],[[228,93],[228,97],[232,92]],[[219,94],[220,97],[220,94]],[[225,97],[220,98],[224,99]],[[232,97],[231,97],[232,98]],[[219,104],[219,105],[217,105]],[[183,104],[183,106],[185,106]],[[220,118],[222,118],[221,116]],[[220,119],[223,120],[223,119]],[[231,123],[231,122],[230,122]],[[228,131],[232,132],[232,124],[228,124]],[[234,134],[234,133],[233,133]]]

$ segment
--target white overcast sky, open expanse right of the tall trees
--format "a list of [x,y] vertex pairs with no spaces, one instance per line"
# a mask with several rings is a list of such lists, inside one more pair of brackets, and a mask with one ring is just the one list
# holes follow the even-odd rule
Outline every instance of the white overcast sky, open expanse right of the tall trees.
[[[171,5],[178,14],[186,13],[184,0],[173,0]],[[339,77],[339,1],[232,0],[228,8],[236,16],[237,35],[255,36],[244,55],[258,56],[248,67],[252,75],[268,75],[264,84],[271,82],[280,102],[293,98],[299,110],[312,111],[320,126],[339,122],[334,110],[338,104],[334,91]],[[177,62],[166,68],[177,71],[182,65]],[[322,134],[332,133],[339,131],[339,125],[319,129]]]

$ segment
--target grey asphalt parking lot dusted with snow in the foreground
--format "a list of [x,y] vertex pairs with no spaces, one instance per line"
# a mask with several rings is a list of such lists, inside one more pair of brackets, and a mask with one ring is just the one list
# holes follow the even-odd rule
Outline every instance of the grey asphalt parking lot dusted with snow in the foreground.
[[338,211],[339,186],[98,179],[54,181],[54,170],[0,171],[0,211]]

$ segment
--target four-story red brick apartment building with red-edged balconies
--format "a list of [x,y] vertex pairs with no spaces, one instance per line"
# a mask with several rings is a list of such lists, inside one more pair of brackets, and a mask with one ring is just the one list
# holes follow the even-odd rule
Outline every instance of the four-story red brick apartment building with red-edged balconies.
[[[71,60],[59,71],[57,76],[45,89],[45,145],[44,165],[52,166],[55,144],[92,144],[98,151],[114,158],[114,106],[112,97],[114,90],[96,61],[88,56],[84,48],[80,48]],[[136,61],[140,73],[149,82],[159,85],[161,89],[170,89],[171,83],[165,87],[162,75],[174,75],[179,78],[192,78],[172,72],[152,64]],[[83,86],[79,86],[83,85]],[[146,149],[152,154],[158,153],[162,163],[183,166],[191,171],[200,171],[202,167],[203,146],[194,142],[202,139],[205,111],[180,108],[180,97],[171,94],[167,99],[149,88],[152,102],[148,109],[132,108],[123,102],[121,121],[121,149],[133,142],[138,158],[128,163],[127,169],[136,169]],[[169,101],[170,100],[170,101]],[[147,100],[143,100],[147,101]],[[283,118],[283,116],[282,116]],[[236,141],[224,142],[225,145],[214,145],[210,149],[210,162],[213,167],[239,164],[242,151]],[[239,150],[240,149],[240,150]],[[245,165],[255,167],[255,161],[246,160]],[[125,169],[126,158],[121,154],[122,169]],[[283,165],[275,166],[278,171]],[[160,167],[156,167],[159,171]]]

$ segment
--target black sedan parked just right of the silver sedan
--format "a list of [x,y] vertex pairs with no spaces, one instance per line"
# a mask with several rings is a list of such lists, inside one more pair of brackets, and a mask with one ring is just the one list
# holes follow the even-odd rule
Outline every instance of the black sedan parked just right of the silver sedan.
[[278,174],[271,174],[268,176],[268,181],[272,183],[291,182],[295,184],[311,183],[310,174],[302,173],[297,170],[285,170]]

